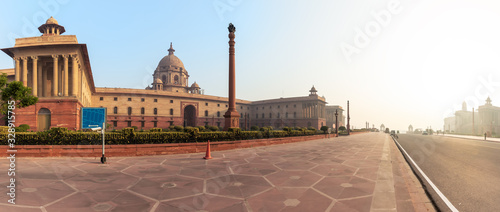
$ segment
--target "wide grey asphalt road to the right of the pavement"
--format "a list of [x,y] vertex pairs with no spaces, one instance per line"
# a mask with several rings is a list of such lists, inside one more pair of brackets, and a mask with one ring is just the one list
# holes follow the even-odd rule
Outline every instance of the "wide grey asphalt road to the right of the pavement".
[[500,211],[500,143],[406,134],[398,141],[459,211]]

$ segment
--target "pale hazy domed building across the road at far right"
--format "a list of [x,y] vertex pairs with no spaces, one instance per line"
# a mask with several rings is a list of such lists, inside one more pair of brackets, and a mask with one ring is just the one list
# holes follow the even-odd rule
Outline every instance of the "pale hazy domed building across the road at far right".
[[444,119],[444,130],[448,133],[497,135],[500,133],[500,107],[493,106],[488,97],[477,111],[467,111],[467,104],[462,103],[462,110],[452,117]]

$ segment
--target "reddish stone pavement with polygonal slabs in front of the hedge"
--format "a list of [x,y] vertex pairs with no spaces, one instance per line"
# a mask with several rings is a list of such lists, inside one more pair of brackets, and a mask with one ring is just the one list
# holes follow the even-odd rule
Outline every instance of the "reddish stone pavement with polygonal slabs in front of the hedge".
[[17,158],[15,206],[2,162],[0,211],[434,211],[385,133],[203,156]]

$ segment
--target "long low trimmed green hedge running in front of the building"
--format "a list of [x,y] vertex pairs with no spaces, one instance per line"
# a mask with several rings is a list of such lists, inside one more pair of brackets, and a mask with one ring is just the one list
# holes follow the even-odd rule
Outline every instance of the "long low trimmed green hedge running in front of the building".
[[[213,131],[199,132],[198,128],[188,132],[135,132],[124,129],[121,132],[106,132],[106,144],[159,144],[210,141],[232,141],[260,138],[315,135],[313,130],[267,130],[267,131]],[[102,135],[98,132],[75,132],[64,128],[53,128],[44,132],[16,132],[16,145],[99,145]],[[7,134],[0,133],[0,145],[7,145]]]

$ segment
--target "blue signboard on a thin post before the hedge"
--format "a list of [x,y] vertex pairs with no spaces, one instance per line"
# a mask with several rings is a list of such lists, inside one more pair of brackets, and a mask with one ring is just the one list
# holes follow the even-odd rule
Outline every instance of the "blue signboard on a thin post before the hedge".
[[82,129],[93,131],[101,130],[102,134],[102,157],[101,163],[106,163],[104,156],[104,132],[106,130],[106,108],[102,107],[82,107]]

